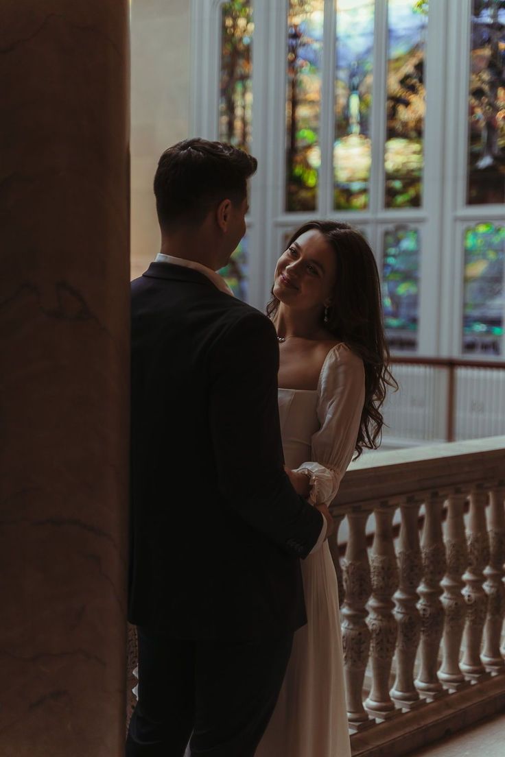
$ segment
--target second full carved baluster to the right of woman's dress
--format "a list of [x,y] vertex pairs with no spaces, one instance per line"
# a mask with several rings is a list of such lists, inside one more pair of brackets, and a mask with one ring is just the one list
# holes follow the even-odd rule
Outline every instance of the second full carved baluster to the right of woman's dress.
[[365,707],[370,715],[390,718],[399,712],[389,696],[389,674],[396,646],[397,625],[393,615],[394,592],[398,587],[398,568],[394,554],[392,523],[394,507],[383,505],[375,510],[376,533],[373,538],[372,599],[369,601],[368,628],[370,631],[370,657],[372,690]]

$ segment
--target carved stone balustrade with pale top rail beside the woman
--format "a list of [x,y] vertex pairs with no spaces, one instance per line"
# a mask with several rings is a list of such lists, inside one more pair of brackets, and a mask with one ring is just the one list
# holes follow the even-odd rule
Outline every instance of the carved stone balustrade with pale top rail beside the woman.
[[505,705],[504,503],[505,437],[351,464],[332,553],[353,755],[398,757]]

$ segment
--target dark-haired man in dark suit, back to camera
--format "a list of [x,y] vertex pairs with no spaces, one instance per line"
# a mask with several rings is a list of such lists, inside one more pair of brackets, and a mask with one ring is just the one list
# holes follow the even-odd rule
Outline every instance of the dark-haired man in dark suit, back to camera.
[[283,469],[271,322],[215,273],[257,162],[190,139],[154,178],[161,253],[132,283],[128,757],[252,757],[304,625],[299,559],[331,530]]

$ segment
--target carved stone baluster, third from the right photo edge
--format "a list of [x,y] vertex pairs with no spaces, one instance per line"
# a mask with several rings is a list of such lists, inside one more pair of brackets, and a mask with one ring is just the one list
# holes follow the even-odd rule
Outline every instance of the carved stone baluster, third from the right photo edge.
[[444,594],[441,602],[445,610],[444,658],[438,678],[447,689],[457,690],[469,685],[460,669],[460,650],[465,627],[466,603],[461,593],[463,573],[468,565],[464,508],[466,494],[451,494],[447,500],[447,531],[445,551],[447,572],[441,582]]

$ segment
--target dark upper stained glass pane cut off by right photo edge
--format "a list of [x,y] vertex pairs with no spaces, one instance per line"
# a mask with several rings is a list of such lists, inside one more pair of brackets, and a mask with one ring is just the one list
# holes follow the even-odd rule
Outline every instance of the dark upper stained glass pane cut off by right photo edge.
[[505,202],[505,2],[473,0],[469,92],[470,205]]

